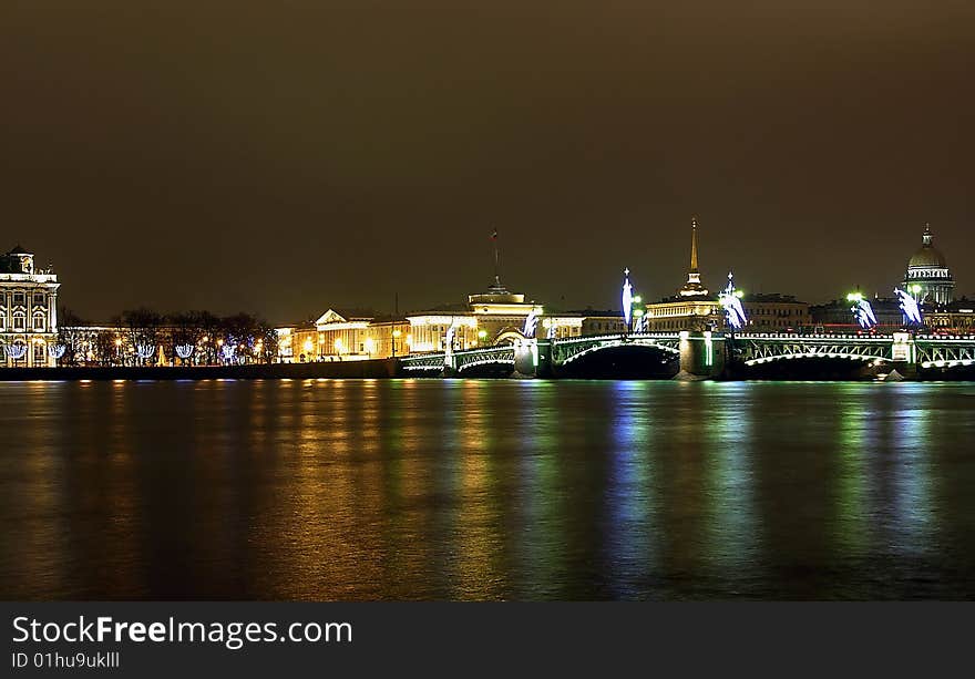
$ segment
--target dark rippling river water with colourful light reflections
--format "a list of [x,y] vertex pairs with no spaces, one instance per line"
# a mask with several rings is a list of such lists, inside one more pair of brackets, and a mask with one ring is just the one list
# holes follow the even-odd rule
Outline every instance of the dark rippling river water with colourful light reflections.
[[975,598],[975,384],[0,383],[0,598]]

